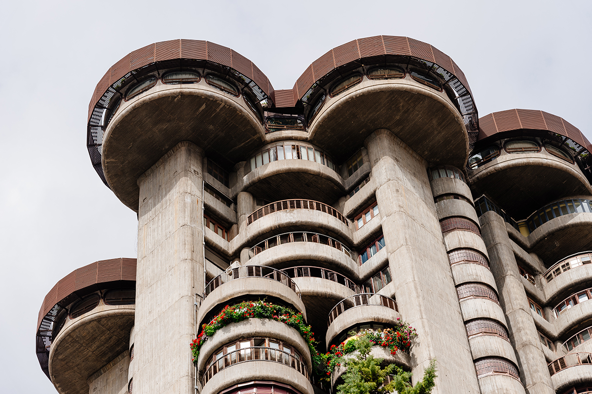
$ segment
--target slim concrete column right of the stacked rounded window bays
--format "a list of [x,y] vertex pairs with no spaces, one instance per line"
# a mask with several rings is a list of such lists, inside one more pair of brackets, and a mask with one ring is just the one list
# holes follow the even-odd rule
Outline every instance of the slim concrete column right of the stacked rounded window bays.
[[490,256],[491,272],[496,278],[500,304],[510,328],[510,341],[516,349],[520,379],[529,394],[555,393],[545,355],[540,350],[539,334],[530,315],[516,257],[510,246],[506,223],[491,211],[479,219]]

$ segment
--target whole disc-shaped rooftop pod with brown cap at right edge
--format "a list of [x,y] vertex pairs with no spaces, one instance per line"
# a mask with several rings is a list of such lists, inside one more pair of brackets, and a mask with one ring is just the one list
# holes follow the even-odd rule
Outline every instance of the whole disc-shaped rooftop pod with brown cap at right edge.
[[532,206],[592,194],[591,173],[585,170],[592,164],[592,145],[565,119],[539,110],[511,109],[486,115],[479,125],[468,170],[475,196],[487,194],[520,219]]

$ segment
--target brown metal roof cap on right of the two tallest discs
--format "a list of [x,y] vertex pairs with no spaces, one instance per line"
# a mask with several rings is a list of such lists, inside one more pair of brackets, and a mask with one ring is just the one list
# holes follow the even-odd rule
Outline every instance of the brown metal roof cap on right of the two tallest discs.
[[358,40],[340,45],[313,61],[294,84],[294,96],[302,99],[316,81],[337,67],[363,58],[382,55],[410,56],[436,63],[453,74],[471,93],[471,87],[466,81],[465,74],[452,58],[442,51],[430,44],[413,40],[413,38],[376,35],[358,38]]

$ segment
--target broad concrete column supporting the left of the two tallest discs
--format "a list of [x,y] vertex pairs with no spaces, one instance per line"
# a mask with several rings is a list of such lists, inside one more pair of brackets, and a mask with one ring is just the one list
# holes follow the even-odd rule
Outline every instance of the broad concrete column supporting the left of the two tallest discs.
[[189,343],[204,291],[202,151],[181,142],[138,180],[134,393],[194,394]]

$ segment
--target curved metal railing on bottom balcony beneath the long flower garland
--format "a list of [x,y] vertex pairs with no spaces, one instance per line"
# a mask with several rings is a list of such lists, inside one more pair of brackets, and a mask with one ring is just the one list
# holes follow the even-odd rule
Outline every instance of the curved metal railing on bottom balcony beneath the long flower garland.
[[205,385],[208,380],[224,368],[250,361],[271,361],[285,364],[297,370],[308,379],[306,364],[299,357],[294,356],[294,354],[288,353],[285,350],[272,349],[271,347],[252,346],[231,351],[224,354],[220,359],[213,360],[213,363],[204,372],[203,384]]

